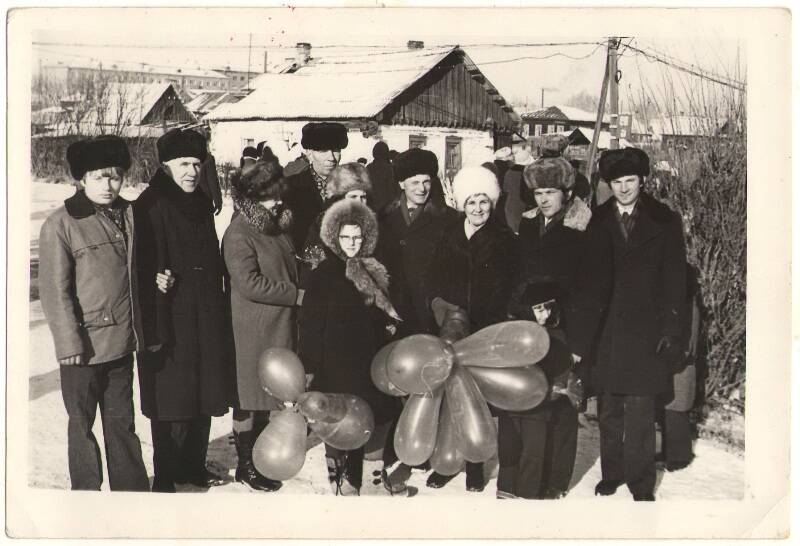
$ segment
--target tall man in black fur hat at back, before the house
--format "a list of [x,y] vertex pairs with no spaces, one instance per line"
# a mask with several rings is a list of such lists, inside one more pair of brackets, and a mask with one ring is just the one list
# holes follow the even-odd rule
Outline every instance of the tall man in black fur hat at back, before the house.
[[324,209],[325,182],[347,148],[347,128],[341,123],[307,123],[300,144],[306,161],[295,162],[301,167],[298,170],[291,163],[286,166],[289,189],[284,199],[294,214],[291,237],[295,249],[303,248],[308,228]]

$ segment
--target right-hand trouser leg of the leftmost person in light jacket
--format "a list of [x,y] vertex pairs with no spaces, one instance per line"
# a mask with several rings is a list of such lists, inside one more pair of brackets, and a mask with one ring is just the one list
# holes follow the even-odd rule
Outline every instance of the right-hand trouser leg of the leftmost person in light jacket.
[[100,416],[112,491],[149,491],[133,418],[133,355],[101,364]]

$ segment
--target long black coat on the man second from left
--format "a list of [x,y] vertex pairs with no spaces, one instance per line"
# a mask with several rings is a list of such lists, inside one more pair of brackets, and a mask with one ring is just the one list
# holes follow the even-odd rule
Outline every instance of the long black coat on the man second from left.
[[[139,357],[142,413],[151,419],[219,416],[232,404],[230,311],[211,207],[161,169],[134,205],[145,340],[162,345]],[[164,269],[176,278],[167,294],[153,282]]]

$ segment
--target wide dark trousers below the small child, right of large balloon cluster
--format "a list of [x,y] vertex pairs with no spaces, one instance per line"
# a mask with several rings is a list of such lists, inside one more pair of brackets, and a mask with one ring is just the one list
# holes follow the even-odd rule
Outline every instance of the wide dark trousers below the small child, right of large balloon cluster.
[[578,412],[562,398],[549,419],[501,415],[497,489],[525,499],[555,499],[569,489],[578,449]]

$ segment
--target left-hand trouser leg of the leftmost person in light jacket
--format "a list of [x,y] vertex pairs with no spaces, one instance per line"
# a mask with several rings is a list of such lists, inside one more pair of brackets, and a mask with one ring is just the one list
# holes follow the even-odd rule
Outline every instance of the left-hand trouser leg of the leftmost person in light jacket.
[[100,401],[98,367],[59,366],[61,396],[67,410],[67,454],[72,489],[99,490],[103,483],[100,446],[92,432]]

